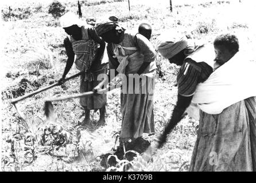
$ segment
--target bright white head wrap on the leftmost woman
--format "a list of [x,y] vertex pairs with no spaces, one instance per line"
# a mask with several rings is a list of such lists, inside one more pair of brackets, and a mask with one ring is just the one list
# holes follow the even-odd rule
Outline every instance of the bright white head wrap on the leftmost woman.
[[64,14],[62,17],[60,17],[60,25],[61,27],[70,27],[72,25],[77,25],[79,27],[82,27],[82,22],[77,17],[77,15],[68,12]]

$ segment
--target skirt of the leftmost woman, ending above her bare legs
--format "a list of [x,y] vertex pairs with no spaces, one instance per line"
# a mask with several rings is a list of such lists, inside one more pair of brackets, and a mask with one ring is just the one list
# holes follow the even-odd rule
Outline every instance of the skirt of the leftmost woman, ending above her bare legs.
[[[97,81],[97,77],[99,74],[106,74],[106,69],[101,69],[99,71],[94,71],[92,73],[92,81],[84,81],[85,75],[81,75],[80,77],[80,93],[90,92],[92,89],[97,86],[101,81]],[[88,110],[92,109],[100,109],[107,103],[107,95],[106,94],[96,94],[93,96],[80,97],[80,105]]]

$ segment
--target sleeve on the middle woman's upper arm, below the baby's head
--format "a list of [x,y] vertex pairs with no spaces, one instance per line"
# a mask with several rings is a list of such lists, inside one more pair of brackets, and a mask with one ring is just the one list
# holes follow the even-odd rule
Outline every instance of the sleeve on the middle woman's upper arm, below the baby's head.
[[152,43],[141,34],[136,34],[138,49],[144,55],[144,62],[153,62],[156,58],[156,51]]

